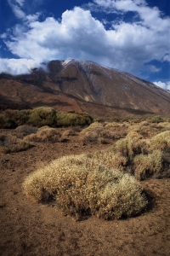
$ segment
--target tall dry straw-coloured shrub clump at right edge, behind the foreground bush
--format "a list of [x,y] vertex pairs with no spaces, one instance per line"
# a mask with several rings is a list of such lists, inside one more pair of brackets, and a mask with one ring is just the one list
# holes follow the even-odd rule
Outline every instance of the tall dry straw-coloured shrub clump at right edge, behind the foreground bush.
[[127,158],[123,171],[130,172],[139,180],[163,177],[169,168],[170,131],[161,132],[150,139],[129,135],[116,142],[114,147],[116,154]]

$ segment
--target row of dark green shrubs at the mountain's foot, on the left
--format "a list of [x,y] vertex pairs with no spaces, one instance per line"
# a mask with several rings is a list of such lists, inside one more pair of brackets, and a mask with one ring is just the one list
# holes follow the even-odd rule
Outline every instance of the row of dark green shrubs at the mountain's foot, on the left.
[[0,128],[16,128],[19,125],[51,127],[89,125],[93,118],[88,113],[59,113],[54,108],[33,108],[24,110],[7,109],[0,113]]

